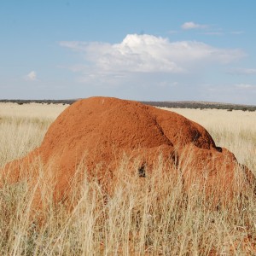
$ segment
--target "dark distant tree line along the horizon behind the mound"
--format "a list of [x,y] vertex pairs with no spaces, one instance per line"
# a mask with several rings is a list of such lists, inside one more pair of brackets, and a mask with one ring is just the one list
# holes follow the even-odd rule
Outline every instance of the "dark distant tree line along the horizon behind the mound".
[[[3,99],[0,102],[12,102],[19,105],[29,103],[41,103],[41,104],[63,104],[71,105],[78,100],[7,100]],[[256,111],[256,106],[251,105],[238,105],[238,104],[225,104],[225,103],[211,103],[211,102],[142,102],[143,104],[160,107],[160,108],[199,108],[199,109],[226,109],[242,110],[242,111]]]

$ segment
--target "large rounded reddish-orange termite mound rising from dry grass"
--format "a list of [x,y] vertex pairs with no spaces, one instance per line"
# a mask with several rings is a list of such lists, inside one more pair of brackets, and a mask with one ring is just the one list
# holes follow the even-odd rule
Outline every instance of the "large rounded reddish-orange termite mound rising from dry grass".
[[96,176],[113,187],[115,170],[124,154],[131,162],[139,159],[137,172],[125,170],[138,178],[152,172],[154,160],[161,154],[183,173],[184,187],[193,183],[194,177],[202,184],[201,189],[222,193],[230,189],[237,170],[245,183],[253,177],[227,149],[216,147],[201,125],[177,113],[108,97],[73,103],[50,125],[42,145],[25,158],[7,164],[3,177],[7,172],[9,182],[26,177],[26,170],[39,158],[45,180],[49,183],[54,179],[55,191],[61,196],[83,160],[89,177]]

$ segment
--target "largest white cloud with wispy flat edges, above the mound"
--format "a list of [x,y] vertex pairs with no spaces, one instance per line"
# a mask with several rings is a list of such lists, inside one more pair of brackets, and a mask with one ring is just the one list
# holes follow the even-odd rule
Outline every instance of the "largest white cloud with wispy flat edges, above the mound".
[[245,55],[241,49],[219,49],[196,41],[170,42],[168,38],[147,34],[128,34],[119,44],[63,41],[60,45],[84,56],[86,65],[73,67],[73,71],[104,76],[124,73],[188,73],[196,64],[224,64]]

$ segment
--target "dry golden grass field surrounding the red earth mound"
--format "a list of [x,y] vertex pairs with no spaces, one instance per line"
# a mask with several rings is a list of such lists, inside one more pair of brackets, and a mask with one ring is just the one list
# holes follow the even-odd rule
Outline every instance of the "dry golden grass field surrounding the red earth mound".
[[[38,147],[65,108],[0,103],[0,166]],[[256,174],[256,112],[171,110],[207,128]],[[30,214],[26,183],[2,185],[0,255],[256,255],[253,189],[215,209],[196,189],[184,193],[161,162],[154,168],[143,184],[125,177],[107,203],[98,184],[84,180],[73,190],[72,210],[51,202],[43,223]]]

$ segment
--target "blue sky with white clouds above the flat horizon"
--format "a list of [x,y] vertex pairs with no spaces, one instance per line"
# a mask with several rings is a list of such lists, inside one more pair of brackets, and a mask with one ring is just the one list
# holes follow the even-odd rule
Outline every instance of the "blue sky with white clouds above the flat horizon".
[[256,1],[0,3],[0,98],[256,105]]

